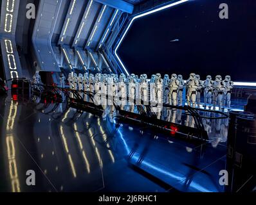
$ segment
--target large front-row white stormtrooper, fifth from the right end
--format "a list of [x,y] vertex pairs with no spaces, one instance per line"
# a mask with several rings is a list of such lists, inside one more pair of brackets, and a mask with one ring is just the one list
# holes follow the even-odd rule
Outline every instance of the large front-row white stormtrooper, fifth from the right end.
[[186,86],[187,86],[188,106],[191,106],[191,102],[192,102],[192,107],[196,108],[196,90],[197,90],[197,87],[199,86],[199,82],[196,79],[196,74],[194,73],[190,74],[190,77],[186,83]]

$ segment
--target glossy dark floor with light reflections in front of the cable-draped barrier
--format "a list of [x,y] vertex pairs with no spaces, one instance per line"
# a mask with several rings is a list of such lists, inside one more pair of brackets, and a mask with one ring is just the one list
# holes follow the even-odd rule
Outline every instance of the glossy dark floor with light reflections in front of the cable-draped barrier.
[[[49,113],[0,98],[0,192],[223,192],[227,124],[204,122],[210,142],[140,135],[138,127],[78,113]],[[35,186],[26,184],[35,171]]]

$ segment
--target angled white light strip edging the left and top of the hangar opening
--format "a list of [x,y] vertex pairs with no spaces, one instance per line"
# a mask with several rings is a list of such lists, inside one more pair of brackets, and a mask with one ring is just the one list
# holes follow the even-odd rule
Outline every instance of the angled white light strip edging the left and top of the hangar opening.
[[151,15],[152,13],[156,13],[156,12],[160,12],[161,10],[165,10],[167,8],[170,8],[172,6],[176,6],[178,4],[181,4],[181,3],[185,3],[187,1],[190,1],[190,0],[181,0],[181,1],[176,1],[175,3],[171,3],[171,4],[168,4],[166,6],[162,6],[160,8],[156,8],[154,10],[151,10],[149,12],[145,12],[145,13],[142,13],[142,14],[139,14],[139,15],[136,15],[135,17],[133,17],[133,19],[131,20],[131,22],[129,23],[129,25],[127,26],[127,28],[125,29],[125,32],[123,33],[122,35],[122,38],[120,39],[118,45],[116,46],[116,49],[114,50],[114,55],[116,56],[116,58],[118,59],[120,65],[122,65],[123,67],[123,70],[125,70],[125,73],[127,75],[129,75],[129,72],[127,71],[127,69],[125,68],[125,65],[123,65],[123,62],[122,60],[119,58],[118,54],[117,54],[117,50],[118,48],[120,47],[121,43],[123,42],[123,39],[124,37],[127,35],[127,32],[129,31],[129,29],[131,28],[131,25],[133,24],[134,20],[136,19],[140,19],[142,17],[145,17],[146,15]]

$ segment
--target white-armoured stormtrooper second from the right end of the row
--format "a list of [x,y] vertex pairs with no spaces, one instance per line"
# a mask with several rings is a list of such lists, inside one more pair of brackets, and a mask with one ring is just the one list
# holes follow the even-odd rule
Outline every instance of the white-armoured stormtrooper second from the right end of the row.
[[212,87],[214,88],[212,99],[214,102],[214,110],[216,109],[216,104],[219,105],[219,110],[222,110],[223,92],[225,88],[221,76],[216,76]]

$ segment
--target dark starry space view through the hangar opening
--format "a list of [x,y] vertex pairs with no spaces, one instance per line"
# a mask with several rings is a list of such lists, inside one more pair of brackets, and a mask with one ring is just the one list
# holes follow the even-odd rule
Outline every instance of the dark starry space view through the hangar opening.
[[[221,3],[228,4],[229,19],[219,18]],[[118,53],[131,73],[256,81],[255,9],[255,0],[188,1],[136,20]]]

